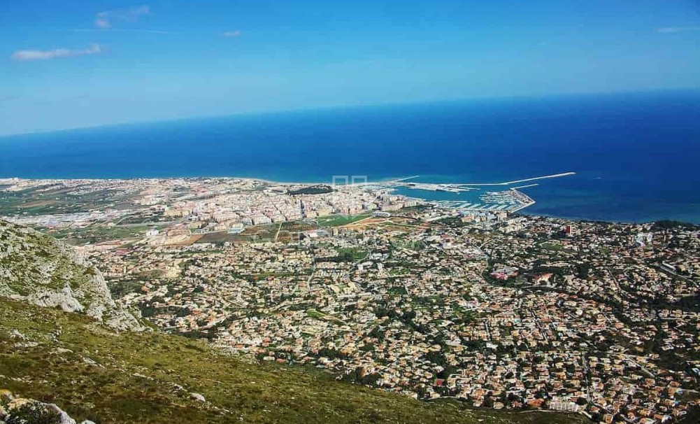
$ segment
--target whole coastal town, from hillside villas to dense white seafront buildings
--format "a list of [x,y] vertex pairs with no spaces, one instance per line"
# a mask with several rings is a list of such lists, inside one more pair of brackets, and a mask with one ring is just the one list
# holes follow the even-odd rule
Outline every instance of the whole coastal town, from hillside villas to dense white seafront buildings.
[[700,406],[697,226],[225,178],[0,179],[0,215],[75,245],[155,327],[233,354],[601,423]]

